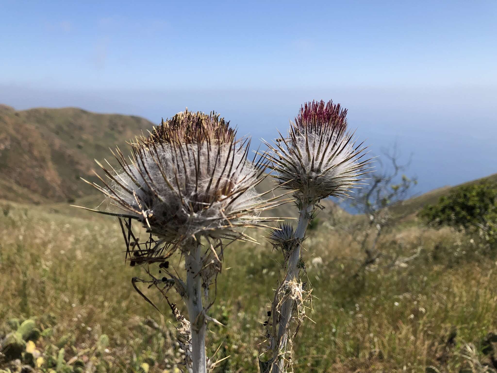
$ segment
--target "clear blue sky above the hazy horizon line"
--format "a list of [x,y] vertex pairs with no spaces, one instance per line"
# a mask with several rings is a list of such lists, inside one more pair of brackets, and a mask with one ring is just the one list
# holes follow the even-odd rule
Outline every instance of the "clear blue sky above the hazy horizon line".
[[2,83],[497,84],[497,2],[2,0]]

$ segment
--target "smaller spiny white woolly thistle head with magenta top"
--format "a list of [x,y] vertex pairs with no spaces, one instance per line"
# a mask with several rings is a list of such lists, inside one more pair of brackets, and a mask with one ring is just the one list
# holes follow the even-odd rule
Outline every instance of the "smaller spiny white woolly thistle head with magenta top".
[[361,161],[366,147],[347,131],[346,113],[331,100],[306,102],[290,122],[289,135],[280,133],[273,145],[266,143],[274,177],[281,187],[296,190],[299,205],[349,197],[369,172],[370,159]]

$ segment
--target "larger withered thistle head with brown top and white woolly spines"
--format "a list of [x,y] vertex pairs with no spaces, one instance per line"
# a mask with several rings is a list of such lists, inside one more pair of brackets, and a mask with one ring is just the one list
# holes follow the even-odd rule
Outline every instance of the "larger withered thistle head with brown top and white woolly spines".
[[129,218],[128,229],[131,219],[138,220],[159,238],[154,243],[251,240],[243,228],[275,220],[260,212],[282,201],[264,200],[265,193],[255,190],[266,165],[248,160],[248,139],[237,140],[219,114],[180,112],[130,145],[129,161],[116,149],[120,171],[99,164],[110,182],[100,178],[104,186],[94,186],[121,210],[103,213]]

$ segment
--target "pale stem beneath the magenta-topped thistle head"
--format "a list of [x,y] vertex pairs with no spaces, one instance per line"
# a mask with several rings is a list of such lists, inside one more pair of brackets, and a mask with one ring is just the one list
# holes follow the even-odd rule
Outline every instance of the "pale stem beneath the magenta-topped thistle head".
[[[302,210],[300,210],[299,222],[297,225],[297,229],[295,231],[295,238],[298,242],[297,245],[292,250],[290,254],[290,258],[288,260],[288,270],[286,273],[285,281],[291,281],[294,278],[298,279],[299,277],[299,269],[297,268],[300,260],[300,252],[302,246],[302,240],[306,234],[307,226],[309,225],[309,221],[311,219],[311,213],[313,210],[313,205],[304,205]],[[283,302],[281,306],[281,316],[278,327],[278,337],[276,341],[279,341],[279,345],[277,346],[278,350],[276,353],[280,353],[286,350],[286,343],[288,338],[288,326],[290,324],[290,319],[292,317],[292,308],[294,305],[294,300],[287,299]],[[272,373],[281,373],[283,371],[283,365],[285,362],[285,356],[279,356],[273,363]]]

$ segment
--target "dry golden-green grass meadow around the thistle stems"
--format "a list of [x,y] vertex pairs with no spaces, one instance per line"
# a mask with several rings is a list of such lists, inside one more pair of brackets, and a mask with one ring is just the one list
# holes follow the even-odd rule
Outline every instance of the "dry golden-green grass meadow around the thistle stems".
[[[144,373],[143,363],[149,373],[180,372],[174,320],[156,290],[141,286],[163,314],[133,289],[131,278],[145,274],[124,265],[114,219],[70,215],[61,206],[0,203],[0,340],[8,320],[32,318],[43,334],[36,341],[43,367],[60,357],[71,369],[80,361],[85,372]],[[312,321],[295,342],[294,372],[417,373],[435,366],[456,373],[468,343],[474,359],[489,362],[482,349],[497,329],[497,263],[474,254],[469,238],[449,229],[396,229],[379,244],[385,253],[401,247],[408,256],[422,247],[421,256],[357,277],[360,253],[347,235],[325,225],[308,233],[306,278],[315,298]],[[279,253],[260,242],[225,253],[210,313],[226,327],[210,326],[208,351],[221,346],[218,357],[230,358],[217,372],[257,372],[261,323],[280,271]],[[170,300],[184,311],[176,295]]]

